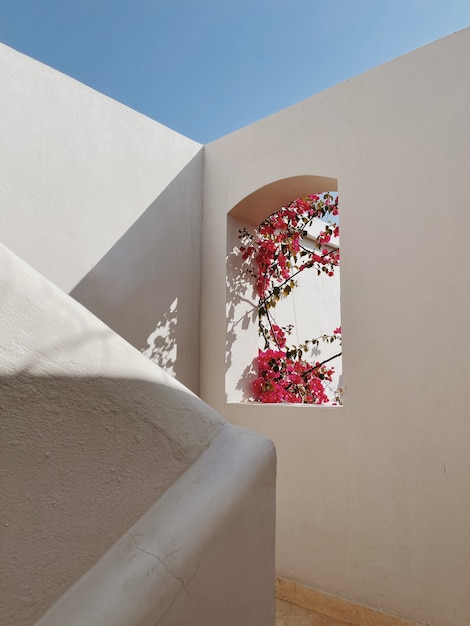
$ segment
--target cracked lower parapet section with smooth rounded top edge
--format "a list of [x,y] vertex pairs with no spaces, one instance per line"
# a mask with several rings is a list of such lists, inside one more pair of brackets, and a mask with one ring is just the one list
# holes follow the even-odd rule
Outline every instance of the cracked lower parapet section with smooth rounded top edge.
[[36,626],[272,626],[274,476],[272,443],[225,426]]

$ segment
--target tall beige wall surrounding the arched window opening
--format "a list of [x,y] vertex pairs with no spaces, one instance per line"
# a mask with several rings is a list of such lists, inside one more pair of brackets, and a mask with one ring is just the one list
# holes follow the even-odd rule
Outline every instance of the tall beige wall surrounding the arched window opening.
[[[205,150],[201,392],[276,444],[277,570],[435,626],[470,615],[469,58],[467,30]],[[227,214],[299,175],[338,179],[344,407],[227,403]]]

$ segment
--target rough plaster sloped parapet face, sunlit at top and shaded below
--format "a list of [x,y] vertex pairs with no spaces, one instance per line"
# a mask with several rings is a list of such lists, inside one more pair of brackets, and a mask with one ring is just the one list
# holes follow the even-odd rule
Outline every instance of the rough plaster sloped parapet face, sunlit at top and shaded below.
[[4,247],[0,268],[0,622],[27,626],[199,458],[221,419]]

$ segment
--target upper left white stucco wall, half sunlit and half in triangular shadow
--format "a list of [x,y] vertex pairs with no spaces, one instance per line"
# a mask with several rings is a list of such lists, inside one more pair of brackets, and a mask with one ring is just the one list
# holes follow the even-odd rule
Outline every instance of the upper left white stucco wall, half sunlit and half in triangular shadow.
[[0,83],[1,241],[197,391],[202,146],[3,45]]

